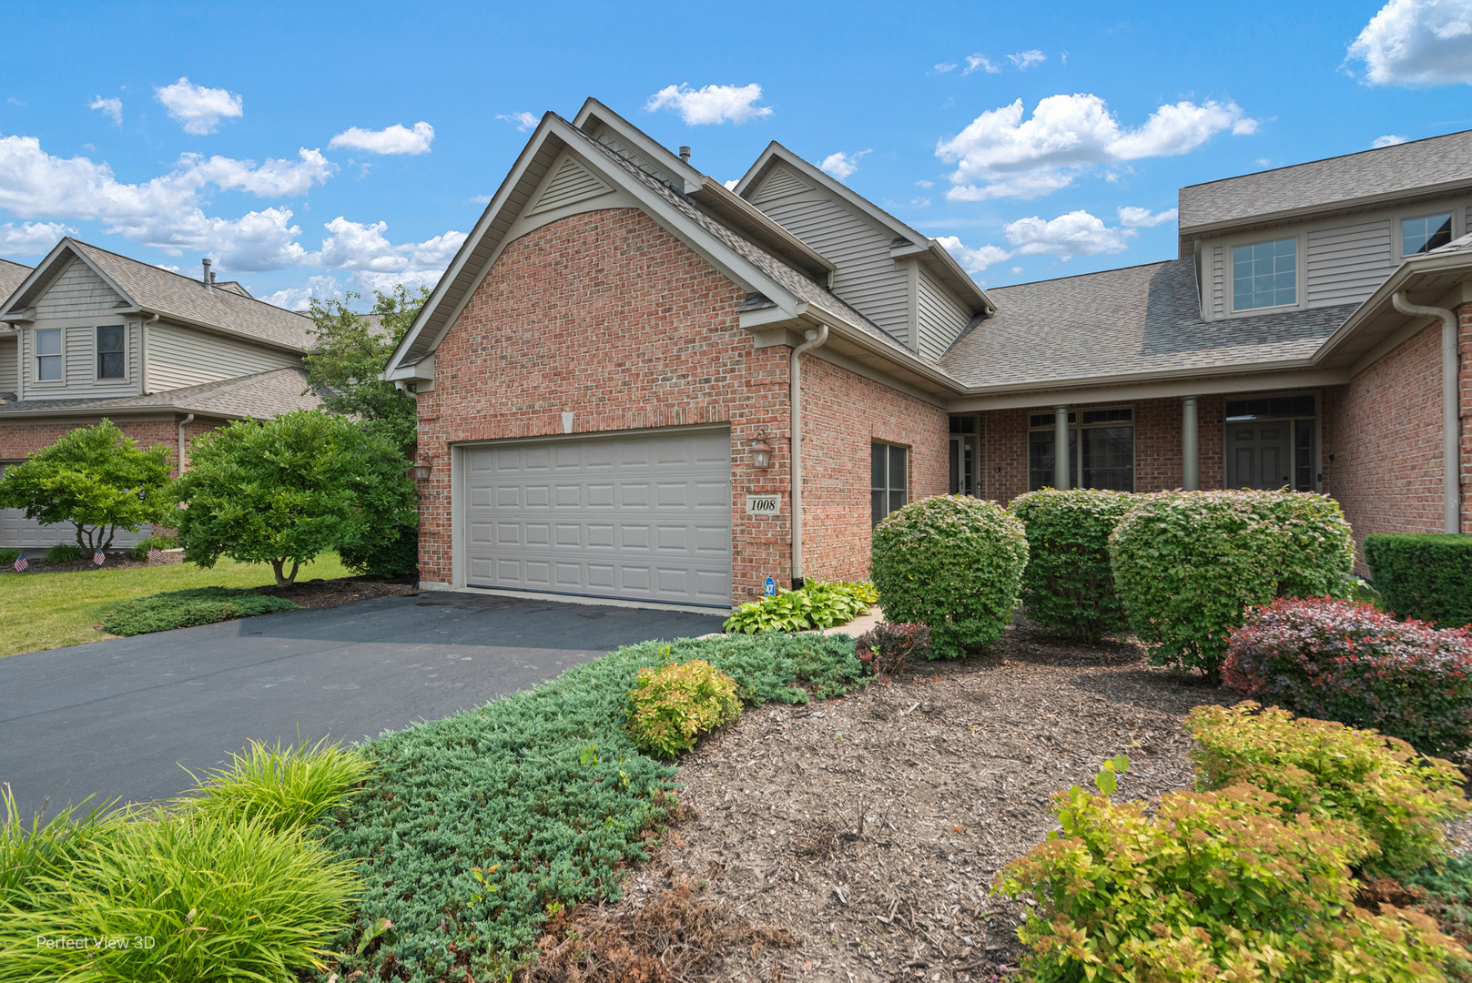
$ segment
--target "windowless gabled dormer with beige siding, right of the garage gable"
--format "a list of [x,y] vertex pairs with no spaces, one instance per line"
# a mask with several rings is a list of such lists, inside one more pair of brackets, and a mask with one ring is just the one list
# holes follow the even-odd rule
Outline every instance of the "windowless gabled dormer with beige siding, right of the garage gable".
[[835,294],[930,359],[994,305],[933,238],[773,143],[736,194],[833,263]]

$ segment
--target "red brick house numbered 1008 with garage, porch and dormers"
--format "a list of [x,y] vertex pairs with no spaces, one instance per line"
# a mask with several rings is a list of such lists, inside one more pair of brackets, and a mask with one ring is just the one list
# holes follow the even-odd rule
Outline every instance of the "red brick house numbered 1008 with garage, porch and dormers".
[[1179,259],[986,291],[779,144],[735,190],[682,150],[543,116],[390,359],[427,586],[726,608],[1044,486],[1472,531],[1472,131],[1183,188]]

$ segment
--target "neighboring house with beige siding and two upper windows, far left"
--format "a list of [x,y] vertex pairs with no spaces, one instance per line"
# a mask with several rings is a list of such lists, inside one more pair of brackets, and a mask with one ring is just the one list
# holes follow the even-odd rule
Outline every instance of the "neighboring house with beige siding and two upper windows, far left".
[[[168,446],[177,472],[208,430],[319,403],[303,394],[311,318],[215,283],[209,260],[191,280],[63,238],[35,269],[0,266],[0,469],[107,418],[140,446]],[[0,546],[72,539],[71,525],[0,509]]]

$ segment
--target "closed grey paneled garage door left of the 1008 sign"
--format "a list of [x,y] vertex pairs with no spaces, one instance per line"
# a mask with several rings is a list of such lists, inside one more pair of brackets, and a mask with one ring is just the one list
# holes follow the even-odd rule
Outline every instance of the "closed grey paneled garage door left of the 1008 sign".
[[730,431],[465,452],[467,583],[730,608]]

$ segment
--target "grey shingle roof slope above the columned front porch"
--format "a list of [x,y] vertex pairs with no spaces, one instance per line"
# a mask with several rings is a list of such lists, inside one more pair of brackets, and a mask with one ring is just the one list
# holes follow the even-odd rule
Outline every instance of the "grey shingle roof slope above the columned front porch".
[[1356,305],[1201,319],[1195,260],[988,290],[997,313],[941,358],[966,386],[1270,363],[1313,355]]

